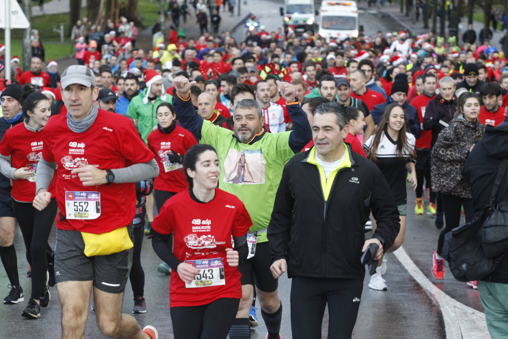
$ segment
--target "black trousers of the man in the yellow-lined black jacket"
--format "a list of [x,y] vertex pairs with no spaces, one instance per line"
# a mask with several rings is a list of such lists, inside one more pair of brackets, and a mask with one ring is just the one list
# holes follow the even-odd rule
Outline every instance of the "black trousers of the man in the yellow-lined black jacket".
[[328,304],[328,337],[351,338],[363,280],[295,276],[291,283],[291,330],[294,339],[321,339]]

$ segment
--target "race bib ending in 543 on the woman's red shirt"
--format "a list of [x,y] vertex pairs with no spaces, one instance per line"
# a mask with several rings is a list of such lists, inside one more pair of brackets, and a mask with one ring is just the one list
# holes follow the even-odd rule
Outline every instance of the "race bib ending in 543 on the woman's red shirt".
[[185,288],[226,285],[222,258],[186,260],[185,263],[199,270],[190,284],[185,283]]

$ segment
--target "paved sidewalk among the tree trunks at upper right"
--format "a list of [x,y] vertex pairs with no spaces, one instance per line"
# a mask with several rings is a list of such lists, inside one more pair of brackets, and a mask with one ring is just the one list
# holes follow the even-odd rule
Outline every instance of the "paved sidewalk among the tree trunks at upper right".
[[[373,6],[370,8],[370,10],[376,10],[376,8]],[[400,4],[389,5],[387,3],[385,6],[381,6],[377,10],[378,10],[378,12],[389,14],[390,16],[392,16],[394,18],[394,20],[399,21],[408,30],[416,33],[417,35],[429,33],[431,30],[432,18],[429,19],[429,29],[424,29],[422,15],[420,15],[419,21],[413,23],[411,16],[405,16],[405,8],[404,8],[404,13],[400,13]],[[446,23],[446,25],[447,25],[447,27],[446,27],[445,32],[448,36],[448,22]],[[477,37],[480,35],[481,29],[483,29],[483,22],[473,21],[473,30],[476,31]],[[459,34],[457,37],[458,38],[457,43],[463,44],[462,35],[464,34],[464,32],[466,30],[467,30],[467,17],[463,17],[459,23]],[[439,17],[437,17],[437,32],[439,32]],[[502,38],[503,33],[499,30],[497,30],[496,32],[492,32],[492,33],[493,33],[492,40],[491,40],[492,46],[494,46],[498,49],[501,49],[502,46],[499,43],[499,40]]]

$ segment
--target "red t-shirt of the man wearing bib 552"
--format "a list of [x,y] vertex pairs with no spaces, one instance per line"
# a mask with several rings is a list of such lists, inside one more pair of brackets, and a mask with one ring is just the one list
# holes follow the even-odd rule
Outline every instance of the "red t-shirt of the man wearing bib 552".
[[[66,191],[92,191],[100,194],[100,216],[96,219],[56,218],[56,227],[101,234],[129,225],[136,210],[135,183],[83,186],[71,171],[79,163],[97,166],[100,170],[124,168],[149,162],[154,154],[148,150],[131,120],[99,109],[96,120],[85,132],[73,132],[66,115],[49,118],[43,129],[42,156],[56,162],[56,203],[66,213]],[[68,194],[69,196],[69,194]],[[69,197],[72,199],[72,196]]]

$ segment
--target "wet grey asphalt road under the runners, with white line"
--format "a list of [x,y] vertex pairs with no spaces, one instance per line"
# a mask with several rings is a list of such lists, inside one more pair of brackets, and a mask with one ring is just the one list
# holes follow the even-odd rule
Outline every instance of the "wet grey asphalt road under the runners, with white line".
[[[242,4],[243,5],[243,4]],[[256,4],[250,0],[245,7],[256,6],[260,10],[257,15],[261,24],[268,31],[275,30],[282,22],[278,14],[278,4],[260,0]],[[236,14],[236,13],[235,13]],[[229,15],[224,20],[236,20]],[[383,32],[396,31],[398,23],[375,11],[361,11],[361,24],[367,35],[377,30]],[[228,24],[233,25],[235,22]],[[237,41],[245,36],[242,26],[234,33]],[[409,186],[408,186],[409,187]],[[428,215],[415,216],[412,213],[415,196],[408,191],[407,231],[403,250],[390,253],[388,270],[385,279],[388,291],[370,290],[367,285],[369,277],[365,278],[364,290],[360,304],[358,321],[353,333],[354,338],[443,338],[443,337],[488,337],[485,332],[485,321],[481,314],[483,308],[477,291],[466,288],[465,283],[459,283],[446,271],[446,275],[439,283],[432,277],[431,255],[437,246],[439,230],[433,225],[433,218]],[[370,233],[366,233],[369,237]],[[55,232],[50,237],[50,244],[55,244]],[[30,279],[25,276],[27,263],[24,258],[24,244],[19,229],[16,233],[15,245],[18,253],[18,268],[21,285],[27,294],[30,290]],[[405,250],[407,258],[402,253]],[[404,260],[404,258],[406,258]],[[400,261],[399,261],[400,260]],[[403,264],[401,263],[403,262]],[[142,249],[142,263],[145,269],[145,298],[147,313],[136,315],[141,326],[151,324],[157,327],[160,338],[172,338],[172,326],[169,312],[169,276],[157,272],[160,260],[156,257],[151,244],[145,239]],[[411,263],[415,266],[412,267]],[[419,273],[420,272],[420,273]],[[0,271],[0,295],[7,295],[9,281],[5,271]],[[290,302],[291,280],[287,276],[279,279],[279,295],[284,305],[281,326],[282,338],[291,338]],[[443,294],[442,292],[445,294]],[[50,288],[52,300],[47,308],[42,309],[39,320],[27,320],[21,317],[26,304],[0,305],[0,338],[46,339],[60,337],[60,305],[56,288]],[[448,297],[449,296],[449,297]],[[131,313],[133,295],[128,284],[123,302],[123,312]],[[259,304],[258,304],[259,307]],[[469,307],[469,308],[468,308]],[[455,310],[463,309],[463,312]],[[453,314],[451,314],[452,312]],[[99,332],[94,314],[89,311],[86,325],[87,338],[103,338]],[[266,336],[266,328],[258,311],[260,326],[251,331],[252,338],[261,339]],[[455,323],[451,321],[458,319]],[[483,322],[482,322],[483,321]],[[457,329],[457,324],[459,324]],[[455,327],[454,327],[455,325]],[[325,313],[323,321],[323,337],[326,338],[328,316]]]

